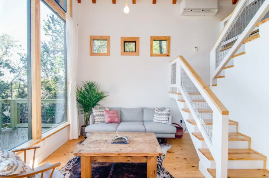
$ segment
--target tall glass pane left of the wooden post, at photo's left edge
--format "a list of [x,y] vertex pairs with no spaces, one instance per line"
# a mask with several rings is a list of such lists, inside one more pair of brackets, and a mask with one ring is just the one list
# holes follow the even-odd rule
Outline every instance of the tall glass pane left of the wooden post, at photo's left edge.
[[5,0],[0,6],[0,149],[5,150],[32,138],[30,5]]

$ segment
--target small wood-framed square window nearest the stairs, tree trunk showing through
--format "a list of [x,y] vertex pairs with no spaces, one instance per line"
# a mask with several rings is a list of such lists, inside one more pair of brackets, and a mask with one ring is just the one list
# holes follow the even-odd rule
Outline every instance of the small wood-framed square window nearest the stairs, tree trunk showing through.
[[170,37],[151,37],[150,56],[170,56]]

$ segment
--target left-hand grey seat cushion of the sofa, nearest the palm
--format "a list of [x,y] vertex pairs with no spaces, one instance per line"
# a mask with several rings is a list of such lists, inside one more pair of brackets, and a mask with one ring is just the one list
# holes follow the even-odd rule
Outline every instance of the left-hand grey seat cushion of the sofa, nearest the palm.
[[118,123],[106,124],[105,122],[99,124],[92,124],[86,127],[86,132],[115,132],[118,128]]

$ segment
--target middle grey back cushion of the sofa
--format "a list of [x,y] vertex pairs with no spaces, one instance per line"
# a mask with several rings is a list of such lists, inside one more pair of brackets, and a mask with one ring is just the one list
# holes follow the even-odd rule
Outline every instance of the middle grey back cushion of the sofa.
[[143,108],[121,108],[121,121],[143,122]]

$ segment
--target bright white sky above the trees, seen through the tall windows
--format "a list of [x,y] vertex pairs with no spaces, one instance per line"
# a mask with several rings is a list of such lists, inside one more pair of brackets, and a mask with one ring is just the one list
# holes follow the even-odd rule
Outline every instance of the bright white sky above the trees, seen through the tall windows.
[[[41,2],[41,27],[47,14],[53,12]],[[27,0],[0,0],[0,35],[11,35],[19,41],[25,52],[27,49]],[[41,41],[46,40],[41,30]]]

